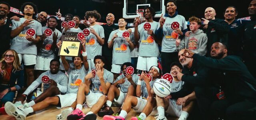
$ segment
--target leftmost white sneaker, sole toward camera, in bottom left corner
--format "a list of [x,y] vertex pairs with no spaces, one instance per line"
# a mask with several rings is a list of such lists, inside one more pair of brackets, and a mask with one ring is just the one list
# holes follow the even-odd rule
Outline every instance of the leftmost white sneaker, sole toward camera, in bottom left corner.
[[12,102],[6,102],[4,105],[4,110],[6,113],[10,116],[14,116],[16,120],[25,120],[26,114],[24,112],[24,109],[18,108]]

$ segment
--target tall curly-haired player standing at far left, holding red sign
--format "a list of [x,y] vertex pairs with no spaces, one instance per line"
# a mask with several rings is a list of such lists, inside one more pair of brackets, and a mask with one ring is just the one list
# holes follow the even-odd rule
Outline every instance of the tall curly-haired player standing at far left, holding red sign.
[[[32,17],[37,13],[37,7],[32,2],[25,2],[21,9],[24,13],[24,18],[19,21],[12,20],[11,31],[11,47],[10,49],[18,52],[20,62],[24,62],[24,68],[27,75],[27,86],[34,81],[34,66],[36,64],[37,48],[36,43],[40,41],[42,35],[42,25],[33,20]],[[34,36],[26,34],[28,29],[34,29]],[[31,29],[30,29],[31,30]]]

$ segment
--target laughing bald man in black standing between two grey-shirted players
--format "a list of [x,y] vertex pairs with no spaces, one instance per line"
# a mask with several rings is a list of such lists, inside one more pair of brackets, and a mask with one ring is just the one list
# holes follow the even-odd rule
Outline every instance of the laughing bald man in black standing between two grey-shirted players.
[[106,60],[106,64],[105,64],[104,68],[107,69],[108,71],[111,71],[112,52],[113,52],[113,47],[108,48],[108,38],[112,31],[119,28],[117,25],[113,24],[114,20],[115,20],[114,14],[109,13],[106,17],[107,24],[102,25],[102,27],[104,28],[104,34],[105,34],[105,40],[104,40],[104,44],[102,46],[102,56]]

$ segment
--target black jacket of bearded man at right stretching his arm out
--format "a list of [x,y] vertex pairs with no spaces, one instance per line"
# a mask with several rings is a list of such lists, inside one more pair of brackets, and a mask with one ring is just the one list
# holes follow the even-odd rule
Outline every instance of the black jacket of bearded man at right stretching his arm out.
[[228,100],[256,100],[256,79],[238,56],[218,60],[194,54],[193,58],[198,64],[222,72],[222,76],[216,76],[215,80],[222,80],[221,86]]

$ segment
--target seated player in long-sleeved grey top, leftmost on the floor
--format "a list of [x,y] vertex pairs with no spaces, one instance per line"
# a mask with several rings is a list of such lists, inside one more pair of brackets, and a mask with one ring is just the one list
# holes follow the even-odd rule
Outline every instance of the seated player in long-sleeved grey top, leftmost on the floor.
[[[20,95],[17,96],[16,102],[14,103],[15,106],[18,108],[28,108],[30,106],[33,106],[34,104],[41,102],[47,97],[55,96],[60,93],[66,93],[67,87],[68,87],[68,78],[67,76],[59,71],[60,68],[60,61],[53,59],[50,61],[50,70],[42,73],[28,88],[26,91]],[[50,78],[49,81],[43,80],[43,76],[48,76]],[[36,90],[33,92],[40,84],[44,84],[44,90],[39,91]],[[32,94],[32,101],[22,104],[24,100],[26,100],[26,96]],[[28,101],[28,100],[27,100]],[[8,104],[12,104],[11,102]],[[8,107],[6,109],[9,109]],[[11,114],[10,111],[8,114]]]

